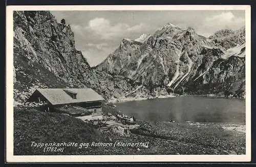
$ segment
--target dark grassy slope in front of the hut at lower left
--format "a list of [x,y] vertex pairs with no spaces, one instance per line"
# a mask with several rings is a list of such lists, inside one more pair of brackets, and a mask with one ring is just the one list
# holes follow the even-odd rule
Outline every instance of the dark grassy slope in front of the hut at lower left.
[[[31,147],[35,143],[61,142],[107,142],[108,138],[87,123],[66,115],[44,112],[36,109],[14,108],[14,155],[87,155],[95,154],[101,148],[78,149],[67,147],[63,152],[44,153],[44,148]],[[99,149],[99,150],[98,150]]]

